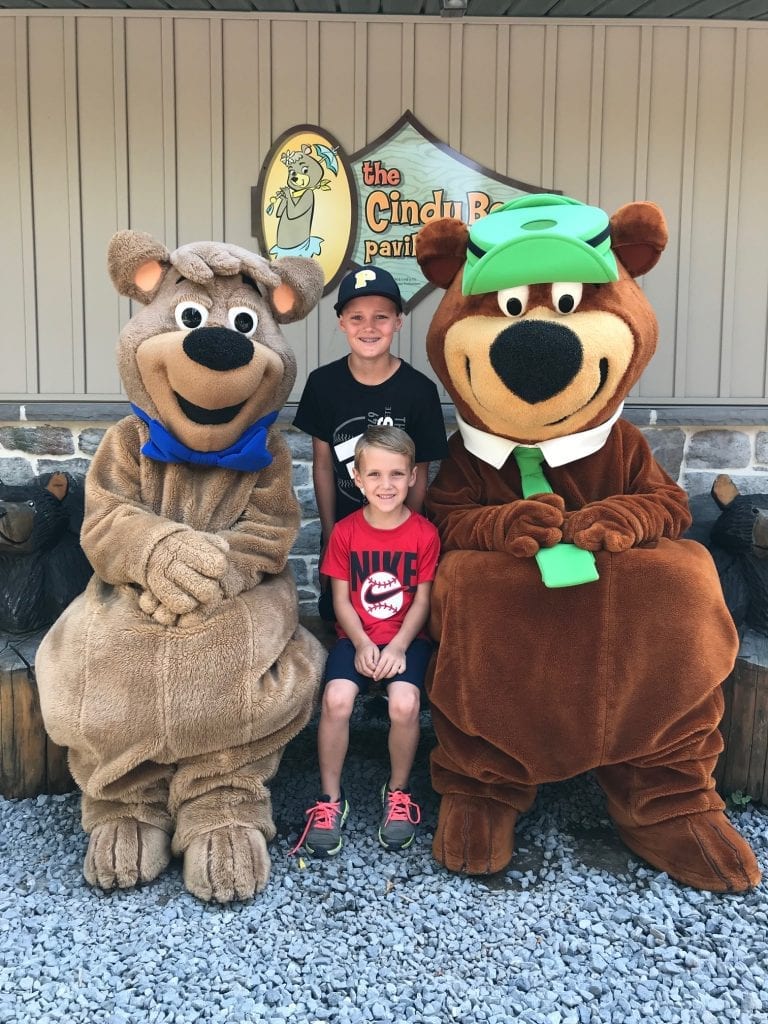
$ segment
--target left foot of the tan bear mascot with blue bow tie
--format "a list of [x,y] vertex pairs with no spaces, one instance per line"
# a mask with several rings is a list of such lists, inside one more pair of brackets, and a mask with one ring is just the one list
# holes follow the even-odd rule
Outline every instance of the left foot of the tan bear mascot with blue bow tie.
[[88,885],[130,889],[152,882],[171,859],[171,838],[157,825],[121,818],[96,825],[83,864]]

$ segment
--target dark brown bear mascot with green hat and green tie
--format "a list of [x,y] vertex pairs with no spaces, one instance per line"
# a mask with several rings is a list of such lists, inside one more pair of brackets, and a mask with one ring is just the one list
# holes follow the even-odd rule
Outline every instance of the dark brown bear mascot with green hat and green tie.
[[452,870],[501,870],[537,786],[593,769],[656,868],[760,881],[712,779],[736,633],[709,553],[679,540],[685,493],[620,419],[657,338],[634,279],[666,243],[651,203],[609,219],[562,196],[417,237],[447,290],[427,344],[459,423],[427,502],[433,852]]

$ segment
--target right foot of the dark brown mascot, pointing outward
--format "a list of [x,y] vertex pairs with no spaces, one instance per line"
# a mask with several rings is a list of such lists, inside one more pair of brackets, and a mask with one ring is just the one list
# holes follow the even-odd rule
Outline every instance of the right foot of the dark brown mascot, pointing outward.
[[755,854],[722,811],[703,811],[653,825],[620,825],[618,835],[643,860],[685,886],[741,893],[760,883]]

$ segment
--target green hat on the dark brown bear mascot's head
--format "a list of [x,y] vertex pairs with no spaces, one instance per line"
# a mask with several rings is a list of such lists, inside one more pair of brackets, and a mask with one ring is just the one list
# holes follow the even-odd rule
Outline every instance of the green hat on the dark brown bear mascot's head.
[[618,281],[604,210],[567,196],[520,196],[470,227],[464,295],[556,281]]

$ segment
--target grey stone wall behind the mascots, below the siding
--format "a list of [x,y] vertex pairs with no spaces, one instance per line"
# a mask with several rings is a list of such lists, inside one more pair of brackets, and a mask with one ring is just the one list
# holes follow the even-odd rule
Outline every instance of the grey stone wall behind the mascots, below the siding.
[[[712,412],[709,411],[710,420]],[[312,490],[312,445],[310,438],[290,425],[291,417],[292,412],[285,410],[280,420],[293,455],[294,486],[302,516],[291,564],[302,612],[311,614],[317,594],[319,548],[319,520]],[[685,410],[678,409],[666,417],[677,422],[650,425],[659,419],[655,411],[627,411],[627,418],[640,426],[658,462],[691,496],[707,494],[718,473],[728,473],[742,492],[768,493],[768,410],[759,410],[753,420],[758,417],[765,417],[764,425],[756,422],[687,425]],[[446,425],[449,432],[453,432],[455,423],[450,414]],[[85,473],[108,426],[108,421],[92,419],[82,422],[0,419],[0,480],[24,483],[39,473],[56,469]]]

